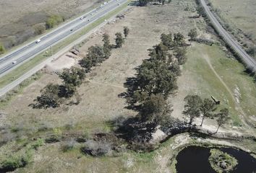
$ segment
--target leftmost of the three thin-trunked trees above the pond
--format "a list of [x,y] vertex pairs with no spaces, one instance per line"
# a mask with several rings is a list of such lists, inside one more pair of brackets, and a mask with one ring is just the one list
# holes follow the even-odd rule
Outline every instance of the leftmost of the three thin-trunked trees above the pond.
[[192,125],[195,117],[200,116],[202,99],[198,95],[187,95],[184,99],[187,104],[184,106],[183,114],[189,117],[189,125]]

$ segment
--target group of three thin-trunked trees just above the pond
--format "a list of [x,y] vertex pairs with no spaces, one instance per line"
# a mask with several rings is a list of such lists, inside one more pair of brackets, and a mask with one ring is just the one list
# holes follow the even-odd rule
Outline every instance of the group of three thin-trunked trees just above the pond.
[[216,112],[217,107],[216,103],[211,99],[202,99],[198,95],[188,95],[185,97],[184,101],[187,103],[184,106],[183,114],[189,117],[189,125],[195,121],[196,117],[200,117],[202,115],[202,121],[200,126],[202,126],[205,118],[217,118],[218,129],[221,125],[227,123],[229,120],[229,110],[227,108],[221,109],[219,112]]

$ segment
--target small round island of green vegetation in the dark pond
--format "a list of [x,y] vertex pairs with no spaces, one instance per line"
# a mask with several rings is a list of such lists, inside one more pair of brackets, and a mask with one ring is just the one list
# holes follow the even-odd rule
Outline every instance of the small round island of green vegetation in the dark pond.
[[231,172],[238,164],[236,158],[218,149],[210,149],[210,166],[218,173]]

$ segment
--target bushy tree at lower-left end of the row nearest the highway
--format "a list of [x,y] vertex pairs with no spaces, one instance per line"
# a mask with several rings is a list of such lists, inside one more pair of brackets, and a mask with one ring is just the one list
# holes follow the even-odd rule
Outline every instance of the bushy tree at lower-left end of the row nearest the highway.
[[35,100],[36,104],[33,104],[33,108],[44,108],[48,107],[59,107],[61,99],[59,98],[59,85],[58,84],[48,84],[41,91],[40,97]]

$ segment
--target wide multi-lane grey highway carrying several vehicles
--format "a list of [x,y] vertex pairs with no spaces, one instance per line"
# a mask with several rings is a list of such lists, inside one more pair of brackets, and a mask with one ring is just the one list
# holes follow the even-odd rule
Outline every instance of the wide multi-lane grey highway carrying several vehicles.
[[[69,37],[70,35],[74,34],[75,32],[81,30],[83,27],[90,25],[95,20],[103,17],[104,15],[108,14],[109,12],[116,9],[119,4],[124,4],[127,0],[111,0],[108,1],[101,9],[93,9],[92,11],[88,12],[87,14],[82,15],[83,19],[78,17],[70,22],[67,22],[64,25],[56,28],[52,32],[49,32],[46,35],[40,37],[40,43],[35,43],[34,40],[27,45],[14,50],[12,53],[7,54],[4,57],[0,58],[0,76],[4,76],[12,69],[20,66],[25,61],[34,58],[39,53],[48,50],[51,46],[59,43],[61,40]],[[15,61],[15,63],[13,63]]]

